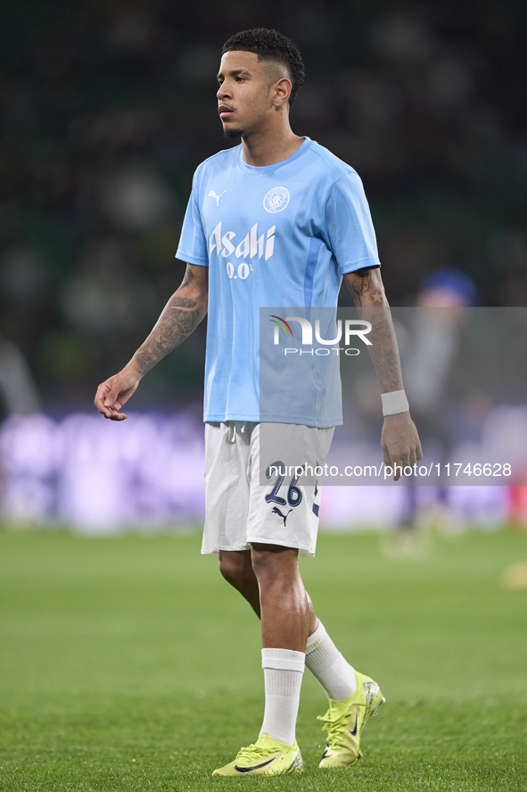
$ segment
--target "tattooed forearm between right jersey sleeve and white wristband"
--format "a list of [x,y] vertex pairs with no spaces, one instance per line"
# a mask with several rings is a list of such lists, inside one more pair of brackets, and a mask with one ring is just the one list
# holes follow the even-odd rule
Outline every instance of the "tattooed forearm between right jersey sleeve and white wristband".
[[358,270],[345,275],[344,279],[357,306],[358,316],[372,325],[368,333],[372,346],[368,346],[368,352],[375,366],[381,392],[402,390],[399,347],[380,271]]

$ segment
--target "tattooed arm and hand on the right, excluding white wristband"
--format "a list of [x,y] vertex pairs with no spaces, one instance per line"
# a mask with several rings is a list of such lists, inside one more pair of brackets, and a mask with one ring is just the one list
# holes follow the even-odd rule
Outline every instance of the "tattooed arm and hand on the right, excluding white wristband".
[[[372,325],[369,334],[372,346],[368,346],[368,351],[377,372],[381,393],[402,390],[399,347],[391,321],[390,305],[384,294],[381,271],[379,268],[357,270],[344,275],[344,280],[357,305],[358,316]],[[411,467],[423,457],[416,425],[410,413],[384,416],[381,447],[384,463],[391,467]],[[396,471],[393,478],[397,481],[399,477],[400,473]]]

